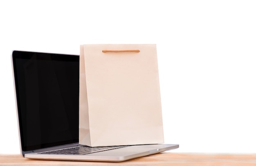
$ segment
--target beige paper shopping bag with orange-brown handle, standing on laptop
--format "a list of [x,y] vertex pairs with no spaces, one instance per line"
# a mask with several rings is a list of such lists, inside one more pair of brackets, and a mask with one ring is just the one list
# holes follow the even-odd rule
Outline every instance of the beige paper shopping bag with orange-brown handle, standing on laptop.
[[81,45],[79,144],[164,143],[156,45]]

